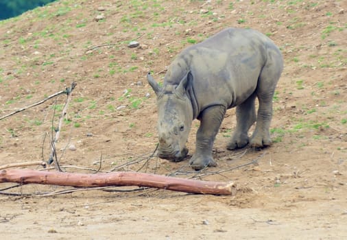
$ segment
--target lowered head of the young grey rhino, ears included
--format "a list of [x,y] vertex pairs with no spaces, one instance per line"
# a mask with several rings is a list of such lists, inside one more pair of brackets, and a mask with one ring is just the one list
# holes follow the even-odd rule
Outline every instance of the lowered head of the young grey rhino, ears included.
[[183,160],[188,154],[185,145],[193,120],[193,108],[187,86],[191,79],[191,73],[187,73],[178,85],[161,87],[150,73],[147,74],[147,81],[157,96],[158,156],[173,162]]

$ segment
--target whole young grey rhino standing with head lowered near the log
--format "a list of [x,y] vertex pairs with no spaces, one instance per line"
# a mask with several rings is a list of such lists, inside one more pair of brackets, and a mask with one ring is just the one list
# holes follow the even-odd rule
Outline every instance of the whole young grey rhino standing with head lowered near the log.
[[[228,108],[236,107],[237,125],[227,148],[271,144],[272,97],[283,70],[283,57],[265,35],[228,28],[184,49],[167,69],[163,87],[147,80],[157,95],[158,156],[180,161],[187,156],[191,122],[200,120],[191,167],[215,166],[213,142]],[[256,116],[255,98],[259,99]],[[249,138],[248,130],[256,121]]]

